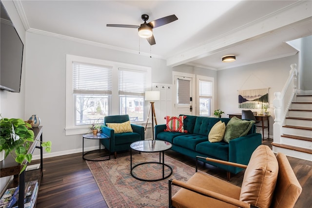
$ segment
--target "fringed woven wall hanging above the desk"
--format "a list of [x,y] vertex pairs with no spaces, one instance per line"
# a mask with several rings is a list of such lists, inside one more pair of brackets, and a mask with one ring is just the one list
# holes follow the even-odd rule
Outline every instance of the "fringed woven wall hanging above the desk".
[[269,104],[269,88],[238,90],[238,107],[257,109],[260,106]]

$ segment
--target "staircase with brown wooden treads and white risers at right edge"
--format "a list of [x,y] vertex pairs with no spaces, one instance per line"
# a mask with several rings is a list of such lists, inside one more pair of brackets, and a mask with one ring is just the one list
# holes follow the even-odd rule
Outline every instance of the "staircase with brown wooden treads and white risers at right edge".
[[273,152],[312,161],[312,96],[297,95],[288,110]]

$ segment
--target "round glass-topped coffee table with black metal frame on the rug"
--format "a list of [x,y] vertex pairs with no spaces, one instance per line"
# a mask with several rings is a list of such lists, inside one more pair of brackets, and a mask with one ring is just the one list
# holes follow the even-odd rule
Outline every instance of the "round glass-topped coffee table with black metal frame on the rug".
[[[171,166],[165,164],[164,161],[164,151],[171,149],[172,144],[166,141],[161,141],[161,140],[141,140],[141,141],[137,141],[134,142],[130,145],[130,173],[131,175],[140,180],[140,181],[160,181],[163,179],[168,178],[169,176],[171,176],[172,174],[172,168]],[[139,163],[135,166],[132,167],[132,150],[136,150],[138,152],[159,152],[159,162],[145,162],[145,163]],[[161,153],[162,153],[162,162],[161,162]],[[137,166],[141,166],[144,164],[160,164],[162,165],[162,177],[158,178],[158,179],[144,179],[144,178],[139,178],[136,175],[133,174],[133,170],[137,167]],[[165,166],[169,167],[170,169],[170,173],[168,175],[165,176]]]

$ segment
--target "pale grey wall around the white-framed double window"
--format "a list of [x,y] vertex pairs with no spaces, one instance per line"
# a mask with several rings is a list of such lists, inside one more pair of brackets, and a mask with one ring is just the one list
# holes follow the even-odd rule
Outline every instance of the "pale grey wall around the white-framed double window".
[[[70,154],[82,149],[82,135],[65,136],[66,54],[152,67],[152,82],[171,83],[172,68],[162,59],[124,53],[90,44],[27,32],[25,114],[37,114],[43,140],[52,142],[45,157]],[[86,141],[85,147],[98,142]],[[35,152],[38,155],[39,152]]]

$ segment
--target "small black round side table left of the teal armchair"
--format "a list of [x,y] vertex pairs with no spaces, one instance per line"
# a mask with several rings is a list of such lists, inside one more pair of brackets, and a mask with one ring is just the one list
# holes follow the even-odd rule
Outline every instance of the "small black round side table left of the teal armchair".
[[[91,150],[91,151],[88,151],[86,153],[84,153],[84,139],[97,139],[98,142],[99,142],[99,148],[98,149],[95,149],[95,150]],[[102,139],[108,139],[109,140],[109,149],[108,149],[108,152],[109,152],[109,155],[104,155],[102,157],[108,157],[106,159],[101,159],[101,160],[94,160],[94,159],[87,159],[85,158],[84,156],[91,153],[91,152],[94,152],[94,151],[100,151],[101,150],[101,140]],[[89,133],[89,134],[84,134],[82,135],[82,158],[84,160],[87,160],[87,161],[104,161],[104,160],[110,160],[111,159],[111,138],[109,136],[107,136],[106,134],[103,134],[103,133],[98,133],[97,135],[94,135],[93,133]]]

